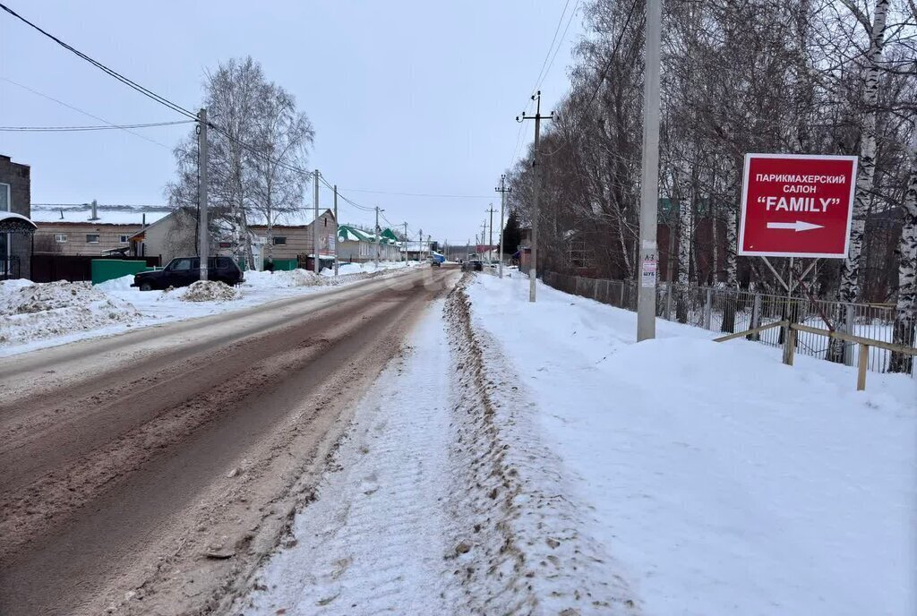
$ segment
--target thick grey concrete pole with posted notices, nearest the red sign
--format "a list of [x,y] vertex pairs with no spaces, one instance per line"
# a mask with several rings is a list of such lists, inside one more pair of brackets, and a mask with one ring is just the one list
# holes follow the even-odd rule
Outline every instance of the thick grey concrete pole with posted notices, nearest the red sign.
[[646,75],[643,88],[643,172],[640,181],[640,266],[636,339],[656,337],[656,244],[659,203],[659,50],[662,0],[646,2]]

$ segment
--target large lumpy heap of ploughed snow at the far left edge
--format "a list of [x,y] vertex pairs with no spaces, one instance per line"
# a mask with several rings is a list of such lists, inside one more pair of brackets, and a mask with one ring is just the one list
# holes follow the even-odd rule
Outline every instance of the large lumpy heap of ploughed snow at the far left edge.
[[109,297],[89,282],[0,283],[0,346],[66,336],[140,318],[127,302]]

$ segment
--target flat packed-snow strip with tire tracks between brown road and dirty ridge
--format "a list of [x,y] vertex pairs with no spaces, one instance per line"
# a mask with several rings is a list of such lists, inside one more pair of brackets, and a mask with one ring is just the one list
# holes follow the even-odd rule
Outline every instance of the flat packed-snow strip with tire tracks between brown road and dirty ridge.
[[271,559],[236,613],[449,612],[440,594],[449,439],[441,310],[432,305],[416,347],[403,347],[360,403],[290,549]]

